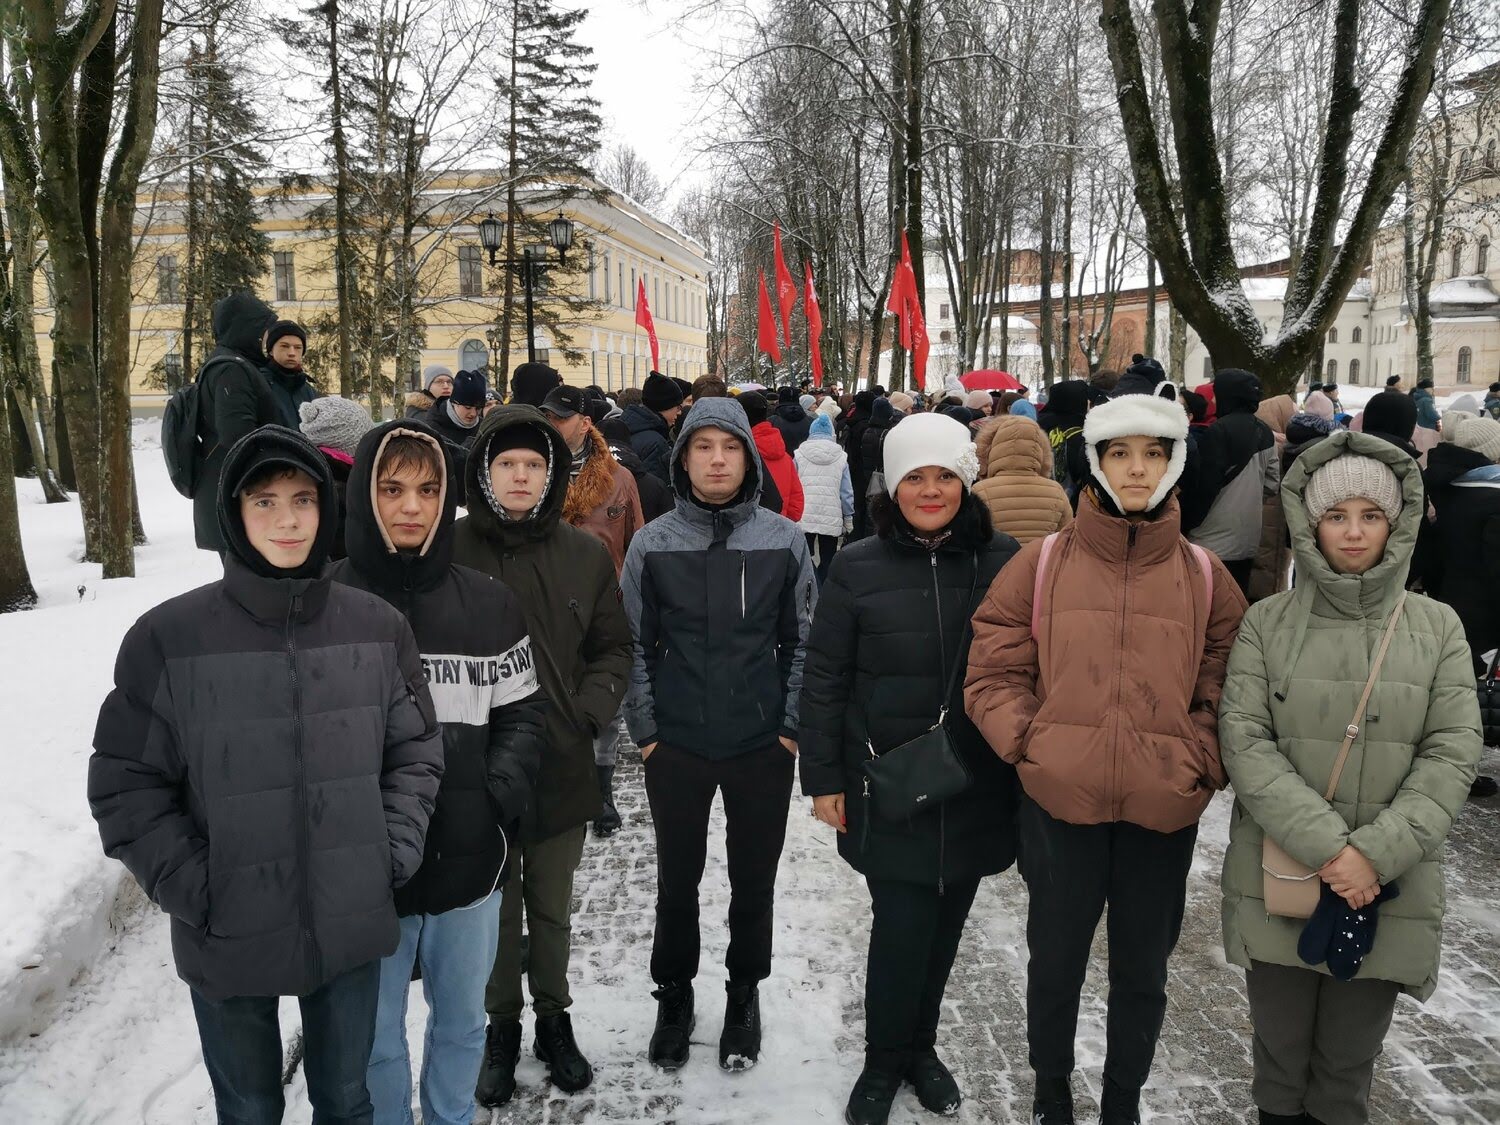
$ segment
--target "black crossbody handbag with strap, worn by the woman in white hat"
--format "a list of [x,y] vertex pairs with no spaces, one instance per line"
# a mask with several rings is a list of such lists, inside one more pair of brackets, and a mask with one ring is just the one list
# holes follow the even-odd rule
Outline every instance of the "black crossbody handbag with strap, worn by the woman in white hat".
[[[974,556],[974,582],[969,585],[969,600],[964,606],[974,604],[974,591],[980,585],[980,556]],[[938,572],[933,572],[933,591],[938,590]],[[891,747],[884,754],[874,752],[874,744],[866,738],[866,748],[870,759],[864,764],[866,792],[874,801],[876,812],[886,820],[906,820],[927,808],[942,807],[974,784],[974,774],[952,746],[948,735],[948,700],[958,686],[958,674],[963,672],[963,662],[956,660],[952,672],[948,672],[948,645],[942,632],[942,604],[938,606],[938,644],[940,646],[940,662],[944,664],[944,694],[942,706],[938,711],[938,722],[910,741]],[[969,634],[972,622],[964,621],[958,640],[958,651],[963,651],[963,638]]]

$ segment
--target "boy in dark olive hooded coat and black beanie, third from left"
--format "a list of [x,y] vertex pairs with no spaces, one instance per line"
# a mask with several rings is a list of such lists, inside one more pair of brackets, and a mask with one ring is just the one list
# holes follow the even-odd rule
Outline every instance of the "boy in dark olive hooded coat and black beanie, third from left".
[[498,406],[478,424],[465,477],[468,516],[453,530],[454,561],[520,598],[549,700],[536,796],[522,818],[519,862],[500,903],[500,946],[484,990],[489,1028],[474,1095],[482,1106],[501,1106],[516,1090],[522,912],[537,1058],[567,1094],[594,1080],[567,1011],[573,873],[588,822],[602,808],[594,740],[624,698],[630,626],[609,552],[562,519],[572,465],[567,442],[542,411]]

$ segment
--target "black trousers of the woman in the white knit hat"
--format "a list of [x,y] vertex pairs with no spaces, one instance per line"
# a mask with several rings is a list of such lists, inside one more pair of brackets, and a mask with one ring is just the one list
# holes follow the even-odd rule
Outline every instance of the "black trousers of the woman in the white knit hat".
[[[867,879],[870,960],[864,976],[864,1044],[888,1058],[930,1050],[948,974],[980,880],[936,886]],[[896,1059],[898,1062],[898,1059]]]

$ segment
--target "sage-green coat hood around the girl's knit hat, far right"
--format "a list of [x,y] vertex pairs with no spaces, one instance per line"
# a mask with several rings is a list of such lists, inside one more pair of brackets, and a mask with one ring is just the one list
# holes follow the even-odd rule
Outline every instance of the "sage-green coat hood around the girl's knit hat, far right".
[[[1390,526],[1384,556],[1364,574],[1338,574],[1317,548],[1317,528],[1308,520],[1304,494],[1308,478],[1334,458],[1356,453],[1374,458],[1395,472],[1401,483],[1401,514]],[[1296,459],[1281,483],[1281,506],[1287,514],[1287,531],[1292,534],[1292,552],[1298,561],[1299,590],[1316,588],[1334,609],[1352,618],[1371,614],[1384,615],[1386,606],[1406,588],[1407,572],[1412,568],[1412,552],[1416,549],[1416,534],[1422,524],[1424,494],[1422,474],[1412,458],[1400,448],[1368,434],[1341,430],[1323,441],[1314,442]]]

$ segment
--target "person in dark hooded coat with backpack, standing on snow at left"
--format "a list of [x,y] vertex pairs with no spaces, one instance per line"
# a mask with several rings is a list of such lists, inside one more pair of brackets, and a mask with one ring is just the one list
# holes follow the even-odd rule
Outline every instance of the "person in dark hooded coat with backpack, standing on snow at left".
[[194,540],[202,550],[225,550],[219,531],[219,477],[230,450],[246,434],[282,420],[266,376],[266,332],[276,322],[272,308],[250,292],[231,292],[213,304],[214,348],[198,369],[198,436],[202,472],[192,496]]

